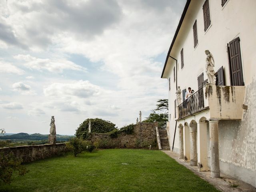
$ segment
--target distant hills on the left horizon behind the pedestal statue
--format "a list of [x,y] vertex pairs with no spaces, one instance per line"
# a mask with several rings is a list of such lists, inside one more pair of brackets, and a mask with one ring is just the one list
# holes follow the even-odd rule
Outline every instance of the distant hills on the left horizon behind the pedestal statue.
[[[58,135],[56,134],[56,140],[57,141],[63,141],[68,140],[69,138],[72,138],[74,136],[67,136],[67,135]],[[40,133],[34,133],[34,134],[27,134],[27,133],[17,133],[12,135],[4,135],[0,137],[0,140],[48,140],[48,135],[43,135]]]

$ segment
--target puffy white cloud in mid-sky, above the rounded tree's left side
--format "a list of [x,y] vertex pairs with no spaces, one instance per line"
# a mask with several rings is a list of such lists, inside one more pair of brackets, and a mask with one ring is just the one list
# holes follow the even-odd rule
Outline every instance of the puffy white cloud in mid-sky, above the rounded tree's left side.
[[73,83],[53,83],[44,88],[45,96],[64,97],[75,96],[88,98],[99,94],[100,88],[89,81],[75,81]]

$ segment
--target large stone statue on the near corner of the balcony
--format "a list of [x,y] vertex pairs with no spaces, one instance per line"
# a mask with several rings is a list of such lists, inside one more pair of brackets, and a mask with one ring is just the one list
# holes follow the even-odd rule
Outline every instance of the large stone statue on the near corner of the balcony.
[[205,65],[205,71],[206,75],[208,77],[208,83],[216,84],[216,76],[214,75],[214,58],[209,50],[205,50],[206,54],[206,65]]

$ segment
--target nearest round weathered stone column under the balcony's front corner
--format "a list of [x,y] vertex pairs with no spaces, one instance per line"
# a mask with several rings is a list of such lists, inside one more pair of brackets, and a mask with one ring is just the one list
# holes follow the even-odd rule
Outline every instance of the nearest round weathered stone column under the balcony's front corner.
[[219,120],[209,120],[210,131],[210,158],[211,158],[211,177],[220,177],[220,162],[219,162]]

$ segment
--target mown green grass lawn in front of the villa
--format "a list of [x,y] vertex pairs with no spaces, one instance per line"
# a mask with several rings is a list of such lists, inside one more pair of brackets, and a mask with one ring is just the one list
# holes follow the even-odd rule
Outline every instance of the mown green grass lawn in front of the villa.
[[[126,163],[126,164],[122,164]],[[217,192],[159,150],[108,149],[38,160],[0,191]]]

